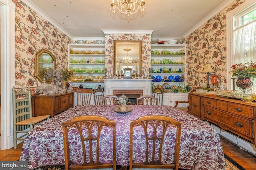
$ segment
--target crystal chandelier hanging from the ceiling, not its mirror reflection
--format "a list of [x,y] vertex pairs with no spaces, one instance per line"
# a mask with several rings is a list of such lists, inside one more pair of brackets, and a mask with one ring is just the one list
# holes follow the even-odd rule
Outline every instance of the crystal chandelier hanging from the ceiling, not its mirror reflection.
[[110,4],[110,10],[112,12],[116,13],[117,9],[119,12],[126,14],[127,16],[135,14],[138,9],[140,9],[140,11],[144,11],[145,8],[146,2],[144,0],[112,0],[112,3]]

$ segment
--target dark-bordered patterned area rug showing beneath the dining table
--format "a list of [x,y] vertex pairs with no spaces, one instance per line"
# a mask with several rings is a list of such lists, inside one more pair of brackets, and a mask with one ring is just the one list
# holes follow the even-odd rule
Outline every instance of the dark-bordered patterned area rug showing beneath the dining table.
[[[224,154],[226,170],[245,170],[242,166]],[[116,170],[128,170],[127,166],[116,166]],[[49,165],[36,168],[35,170],[65,170],[65,165]]]

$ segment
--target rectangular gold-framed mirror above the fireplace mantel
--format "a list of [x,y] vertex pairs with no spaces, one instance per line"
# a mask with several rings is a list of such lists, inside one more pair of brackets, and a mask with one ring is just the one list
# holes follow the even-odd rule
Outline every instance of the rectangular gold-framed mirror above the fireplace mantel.
[[114,75],[124,75],[131,68],[132,75],[142,74],[142,41],[114,41]]

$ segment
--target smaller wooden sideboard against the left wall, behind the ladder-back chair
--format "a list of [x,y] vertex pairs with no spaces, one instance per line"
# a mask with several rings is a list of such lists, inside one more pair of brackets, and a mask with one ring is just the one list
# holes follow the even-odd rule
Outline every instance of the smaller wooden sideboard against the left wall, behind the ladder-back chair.
[[54,115],[73,107],[74,92],[57,95],[33,95],[32,114],[33,116]]

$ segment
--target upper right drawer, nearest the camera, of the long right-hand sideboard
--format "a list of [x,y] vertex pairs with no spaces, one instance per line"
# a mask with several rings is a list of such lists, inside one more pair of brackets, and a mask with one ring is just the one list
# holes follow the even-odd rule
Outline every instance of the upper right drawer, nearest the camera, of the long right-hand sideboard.
[[230,113],[234,113],[236,115],[242,116],[242,117],[247,117],[249,119],[254,119],[254,108],[253,107],[228,103],[227,104],[227,111],[230,112]]

